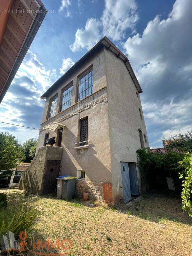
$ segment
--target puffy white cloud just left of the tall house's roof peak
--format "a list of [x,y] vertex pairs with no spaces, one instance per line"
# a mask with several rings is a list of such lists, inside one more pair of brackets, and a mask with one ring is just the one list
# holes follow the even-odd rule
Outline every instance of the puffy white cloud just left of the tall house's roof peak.
[[82,48],[91,49],[101,37],[100,21],[97,19],[89,19],[85,24],[85,29],[78,28],[75,34],[75,42],[69,45],[73,52],[79,51]]

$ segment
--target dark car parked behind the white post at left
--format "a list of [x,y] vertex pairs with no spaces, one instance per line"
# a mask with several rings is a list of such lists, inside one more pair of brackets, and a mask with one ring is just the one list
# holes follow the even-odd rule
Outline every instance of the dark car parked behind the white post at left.
[[[11,180],[11,176],[12,176],[12,172],[10,170],[2,170],[0,171],[0,188],[4,188],[6,186],[9,186],[10,180]],[[15,175],[13,178],[13,183],[19,183],[20,181],[20,177],[22,176],[21,171],[15,171]]]

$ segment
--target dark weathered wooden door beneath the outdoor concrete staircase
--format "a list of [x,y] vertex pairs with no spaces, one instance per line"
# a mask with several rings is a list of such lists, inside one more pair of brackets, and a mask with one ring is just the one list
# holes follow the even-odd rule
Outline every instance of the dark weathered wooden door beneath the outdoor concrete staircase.
[[46,172],[43,176],[42,194],[55,192],[57,180],[59,176],[61,161],[47,160]]

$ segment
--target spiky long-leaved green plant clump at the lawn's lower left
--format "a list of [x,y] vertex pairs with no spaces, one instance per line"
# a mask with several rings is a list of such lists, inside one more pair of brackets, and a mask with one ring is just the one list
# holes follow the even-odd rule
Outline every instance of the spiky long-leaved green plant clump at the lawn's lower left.
[[14,233],[15,239],[18,238],[20,231],[30,234],[35,228],[37,216],[35,207],[29,209],[24,207],[22,202],[19,209],[10,214],[5,212],[3,207],[0,212],[0,237],[6,235],[8,231]]

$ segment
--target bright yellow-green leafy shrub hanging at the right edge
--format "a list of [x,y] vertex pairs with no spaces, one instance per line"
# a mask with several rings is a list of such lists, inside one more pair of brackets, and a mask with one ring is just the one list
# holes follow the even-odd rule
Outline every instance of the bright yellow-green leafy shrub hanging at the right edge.
[[183,211],[188,211],[188,215],[192,217],[192,154],[186,153],[182,161],[179,164],[185,168],[183,172],[180,173],[180,178],[183,179],[183,190],[181,193]]

